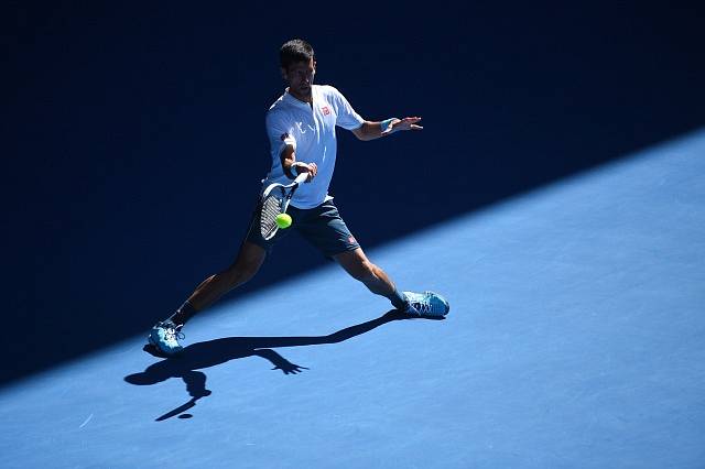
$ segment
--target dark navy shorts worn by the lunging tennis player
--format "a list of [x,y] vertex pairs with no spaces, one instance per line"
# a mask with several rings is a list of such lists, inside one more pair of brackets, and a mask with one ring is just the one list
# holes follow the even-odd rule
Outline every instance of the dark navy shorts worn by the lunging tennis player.
[[301,236],[317,248],[327,258],[347,251],[354,251],[360,247],[348,227],[340,218],[338,208],[333,200],[324,201],[315,208],[302,209],[289,206],[286,212],[292,218],[292,226],[288,229],[276,230],[274,238],[265,241],[260,232],[260,211],[258,203],[252,214],[250,228],[246,241],[252,242],[268,252],[278,240],[285,237],[292,230],[296,230]]

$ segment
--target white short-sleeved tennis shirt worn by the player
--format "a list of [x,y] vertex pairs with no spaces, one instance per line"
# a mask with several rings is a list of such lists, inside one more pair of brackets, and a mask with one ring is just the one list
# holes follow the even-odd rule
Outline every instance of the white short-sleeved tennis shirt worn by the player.
[[335,168],[335,127],[354,130],[365,122],[334,87],[313,85],[311,92],[313,108],[291,96],[288,88],[269,108],[264,119],[272,168],[262,181],[263,187],[271,183],[285,185],[292,182],[284,175],[281,162],[281,153],[288,143],[294,145],[296,161],[318,165],[316,177],[299,186],[294,193],[291,205],[296,208],[314,208],[332,198],[328,186]]

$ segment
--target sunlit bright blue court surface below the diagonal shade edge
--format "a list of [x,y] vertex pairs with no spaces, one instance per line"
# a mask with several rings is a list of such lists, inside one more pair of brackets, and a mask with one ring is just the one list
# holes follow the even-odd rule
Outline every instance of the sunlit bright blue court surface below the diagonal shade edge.
[[134,337],[17,382],[0,466],[705,467],[704,155],[693,133],[368,250],[445,320],[330,264],[197,316],[182,359]]

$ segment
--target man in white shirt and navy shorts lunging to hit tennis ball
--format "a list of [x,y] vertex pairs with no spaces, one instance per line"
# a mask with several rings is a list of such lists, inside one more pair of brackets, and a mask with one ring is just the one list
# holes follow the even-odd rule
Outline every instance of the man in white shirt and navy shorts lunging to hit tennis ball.
[[[282,45],[280,65],[289,87],[265,116],[272,167],[262,181],[263,187],[271,183],[286,185],[299,174],[307,173],[306,183],[297,188],[286,211],[296,231],[372,293],[389,298],[397,309],[415,316],[445,316],[449,310],[445,298],[433,292],[400,292],[384,271],[367,259],[328,195],[336,159],[336,126],[367,141],[402,130],[421,130],[417,124],[421,118],[364,120],[337,89],[313,84],[316,61],[312,46],[305,41],[292,40]],[[249,281],[271,247],[286,233],[288,230],[279,230],[272,239],[264,240],[260,232],[260,212],[261,208],[257,207],[232,265],[206,279],[169,319],[152,328],[149,340],[161,352],[180,352],[184,324]]]

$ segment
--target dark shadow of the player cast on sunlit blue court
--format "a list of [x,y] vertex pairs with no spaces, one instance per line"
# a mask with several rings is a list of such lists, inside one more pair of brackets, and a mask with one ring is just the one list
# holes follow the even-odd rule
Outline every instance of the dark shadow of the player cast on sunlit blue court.
[[[210,391],[206,389],[206,374],[196,370],[221,364],[230,360],[257,356],[269,360],[274,366],[272,370],[281,370],[285,374],[296,374],[307,368],[292,363],[272,350],[273,348],[338,343],[351,337],[369,332],[392,320],[410,318],[412,317],[397,309],[392,309],[377,319],[350,326],[327,336],[226,337],[192,343],[185,347],[184,351],[177,357],[165,358],[158,363],[149,366],[140,373],[129,374],[124,377],[124,381],[135,385],[152,385],[166,381],[170,378],[181,378],[184,380],[186,391],[191,395],[191,401],[156,418],[156,421],[164,421],[192,408],[200,397],[210,395]],[[144,346],[144,350],[159,357],[153,346]],[[180,416],[180,418],[188,417],[191,417],[189,414],[182,414]]]

